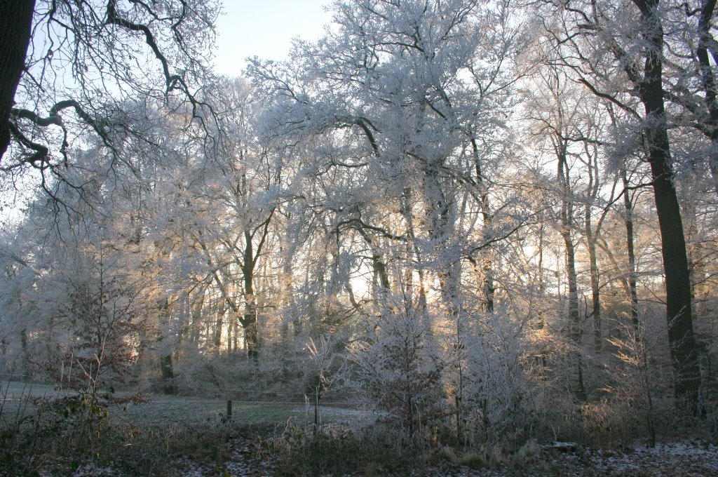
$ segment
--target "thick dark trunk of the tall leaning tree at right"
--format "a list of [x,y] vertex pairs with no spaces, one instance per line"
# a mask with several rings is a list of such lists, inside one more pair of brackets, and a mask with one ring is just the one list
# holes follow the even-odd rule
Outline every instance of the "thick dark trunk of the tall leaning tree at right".
[[691,315],[691,277],[686,239],[676,188],[673,186],[671,149],[663,103],[663,26],[659,0],[634,0],[643,19],[643,37],[649,45],[638,85],[645,108],[645,140],[651,164],[653,193],[661,228],[663,270],[666,275],[666,316],[676,398],[696,409],[700,384],[696,340]]

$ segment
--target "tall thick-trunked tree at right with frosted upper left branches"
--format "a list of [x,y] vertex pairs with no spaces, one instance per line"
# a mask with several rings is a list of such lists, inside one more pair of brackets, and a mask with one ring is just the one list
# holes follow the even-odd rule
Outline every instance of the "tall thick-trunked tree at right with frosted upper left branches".
[[[632,17],[626,17],[626,9]],[[666,318],[676,397],[695,407],[700,382],[691,315],[691,287],[681,208],[668,136],[670,118],[664,98],[664,10],[660,0],[633,0],[606,4],[571,1],[554,11],[562,27],[546,32],[556,55],[572,70],[575,80],[640,121],[645,161],[651,167],[651,185],[661,229],[661,252],[666,282]],[[557,18],[554,16],[553,18]],[[623,28],[617,16],[629,19]],[[627,101],[630,91],[643,106],[643,115]]]

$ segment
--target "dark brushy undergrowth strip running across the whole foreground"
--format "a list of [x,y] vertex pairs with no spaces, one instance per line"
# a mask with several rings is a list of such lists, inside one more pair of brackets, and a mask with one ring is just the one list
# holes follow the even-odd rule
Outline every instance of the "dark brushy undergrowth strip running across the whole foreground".
[[[9,401],[8,401],[9,402]],[[225,475],[236,459],[236,443],[251,443],[244,459],[269,463],[269,474],[286,476],[380,476],[492,468],[500,472],[551,475],[551,456],[564,452],[552,443],[582,448],[628,449],[648,442],[635,409],[603,401],[542,414],[516,415],[513,431],[504,422],[462,438],[452,433],[451,420],[437,420],[413,433],[391,416],[369,425],[330,423],[314,428],[309,420],[292,418],[279,427],[242,425],[221,415],[195,422],[131,422],[122,412],[108,412],[104,402],[83,397],[39,399],[24,397],[0,409],[0,476],[85,475],[176,476],[192,466]],[[663,439],[700,437],[717,441],[718,413],[679,420],[657,415]],[[229,473],[231,475],[231,473]]]

